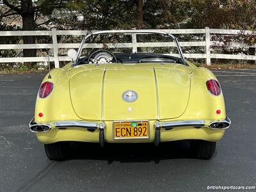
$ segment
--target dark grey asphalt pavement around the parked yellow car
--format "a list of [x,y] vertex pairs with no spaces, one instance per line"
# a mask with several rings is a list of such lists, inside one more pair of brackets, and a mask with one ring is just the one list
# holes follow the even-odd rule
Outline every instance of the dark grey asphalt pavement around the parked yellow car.
[[43,73],[0,76],[1,191],[205,191],[256,186],[256,70],[214,72],[232,126],[210,161],[188,143],[78,145],[73,159],[49,161],[28,130]]

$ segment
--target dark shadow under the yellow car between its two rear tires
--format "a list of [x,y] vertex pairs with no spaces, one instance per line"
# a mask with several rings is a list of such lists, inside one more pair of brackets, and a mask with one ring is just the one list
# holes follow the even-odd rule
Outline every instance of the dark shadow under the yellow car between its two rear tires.
[[72,143],[68,154],[68,159],[106,160],[109,164],[191,158],[189,141],[164,142],[158,147],[154,143],[106,143],[103,148],[99,143]]

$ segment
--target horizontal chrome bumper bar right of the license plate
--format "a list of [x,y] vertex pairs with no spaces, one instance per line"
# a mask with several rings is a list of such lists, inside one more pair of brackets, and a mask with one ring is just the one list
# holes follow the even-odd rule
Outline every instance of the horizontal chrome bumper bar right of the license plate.
[[163,129],[173,128],[173,127],[203,127],[205,125],[204,120],[185,120],[185,121],[175,121],[175,122],[162,122],[161,127]]

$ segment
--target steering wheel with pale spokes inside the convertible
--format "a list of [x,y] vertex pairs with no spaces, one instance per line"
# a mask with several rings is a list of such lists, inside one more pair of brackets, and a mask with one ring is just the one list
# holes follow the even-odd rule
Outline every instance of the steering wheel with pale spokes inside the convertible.
[[88,64],[117,63],[115,55],[107,50],[98,50],[90,54]]

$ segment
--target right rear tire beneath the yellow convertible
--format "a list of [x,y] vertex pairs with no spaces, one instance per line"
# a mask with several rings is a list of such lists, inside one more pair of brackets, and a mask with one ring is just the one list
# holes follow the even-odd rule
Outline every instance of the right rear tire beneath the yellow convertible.
[[190,150],[197,159],[211,159],[216,148],[216,142],[195,140],[190,141]]

